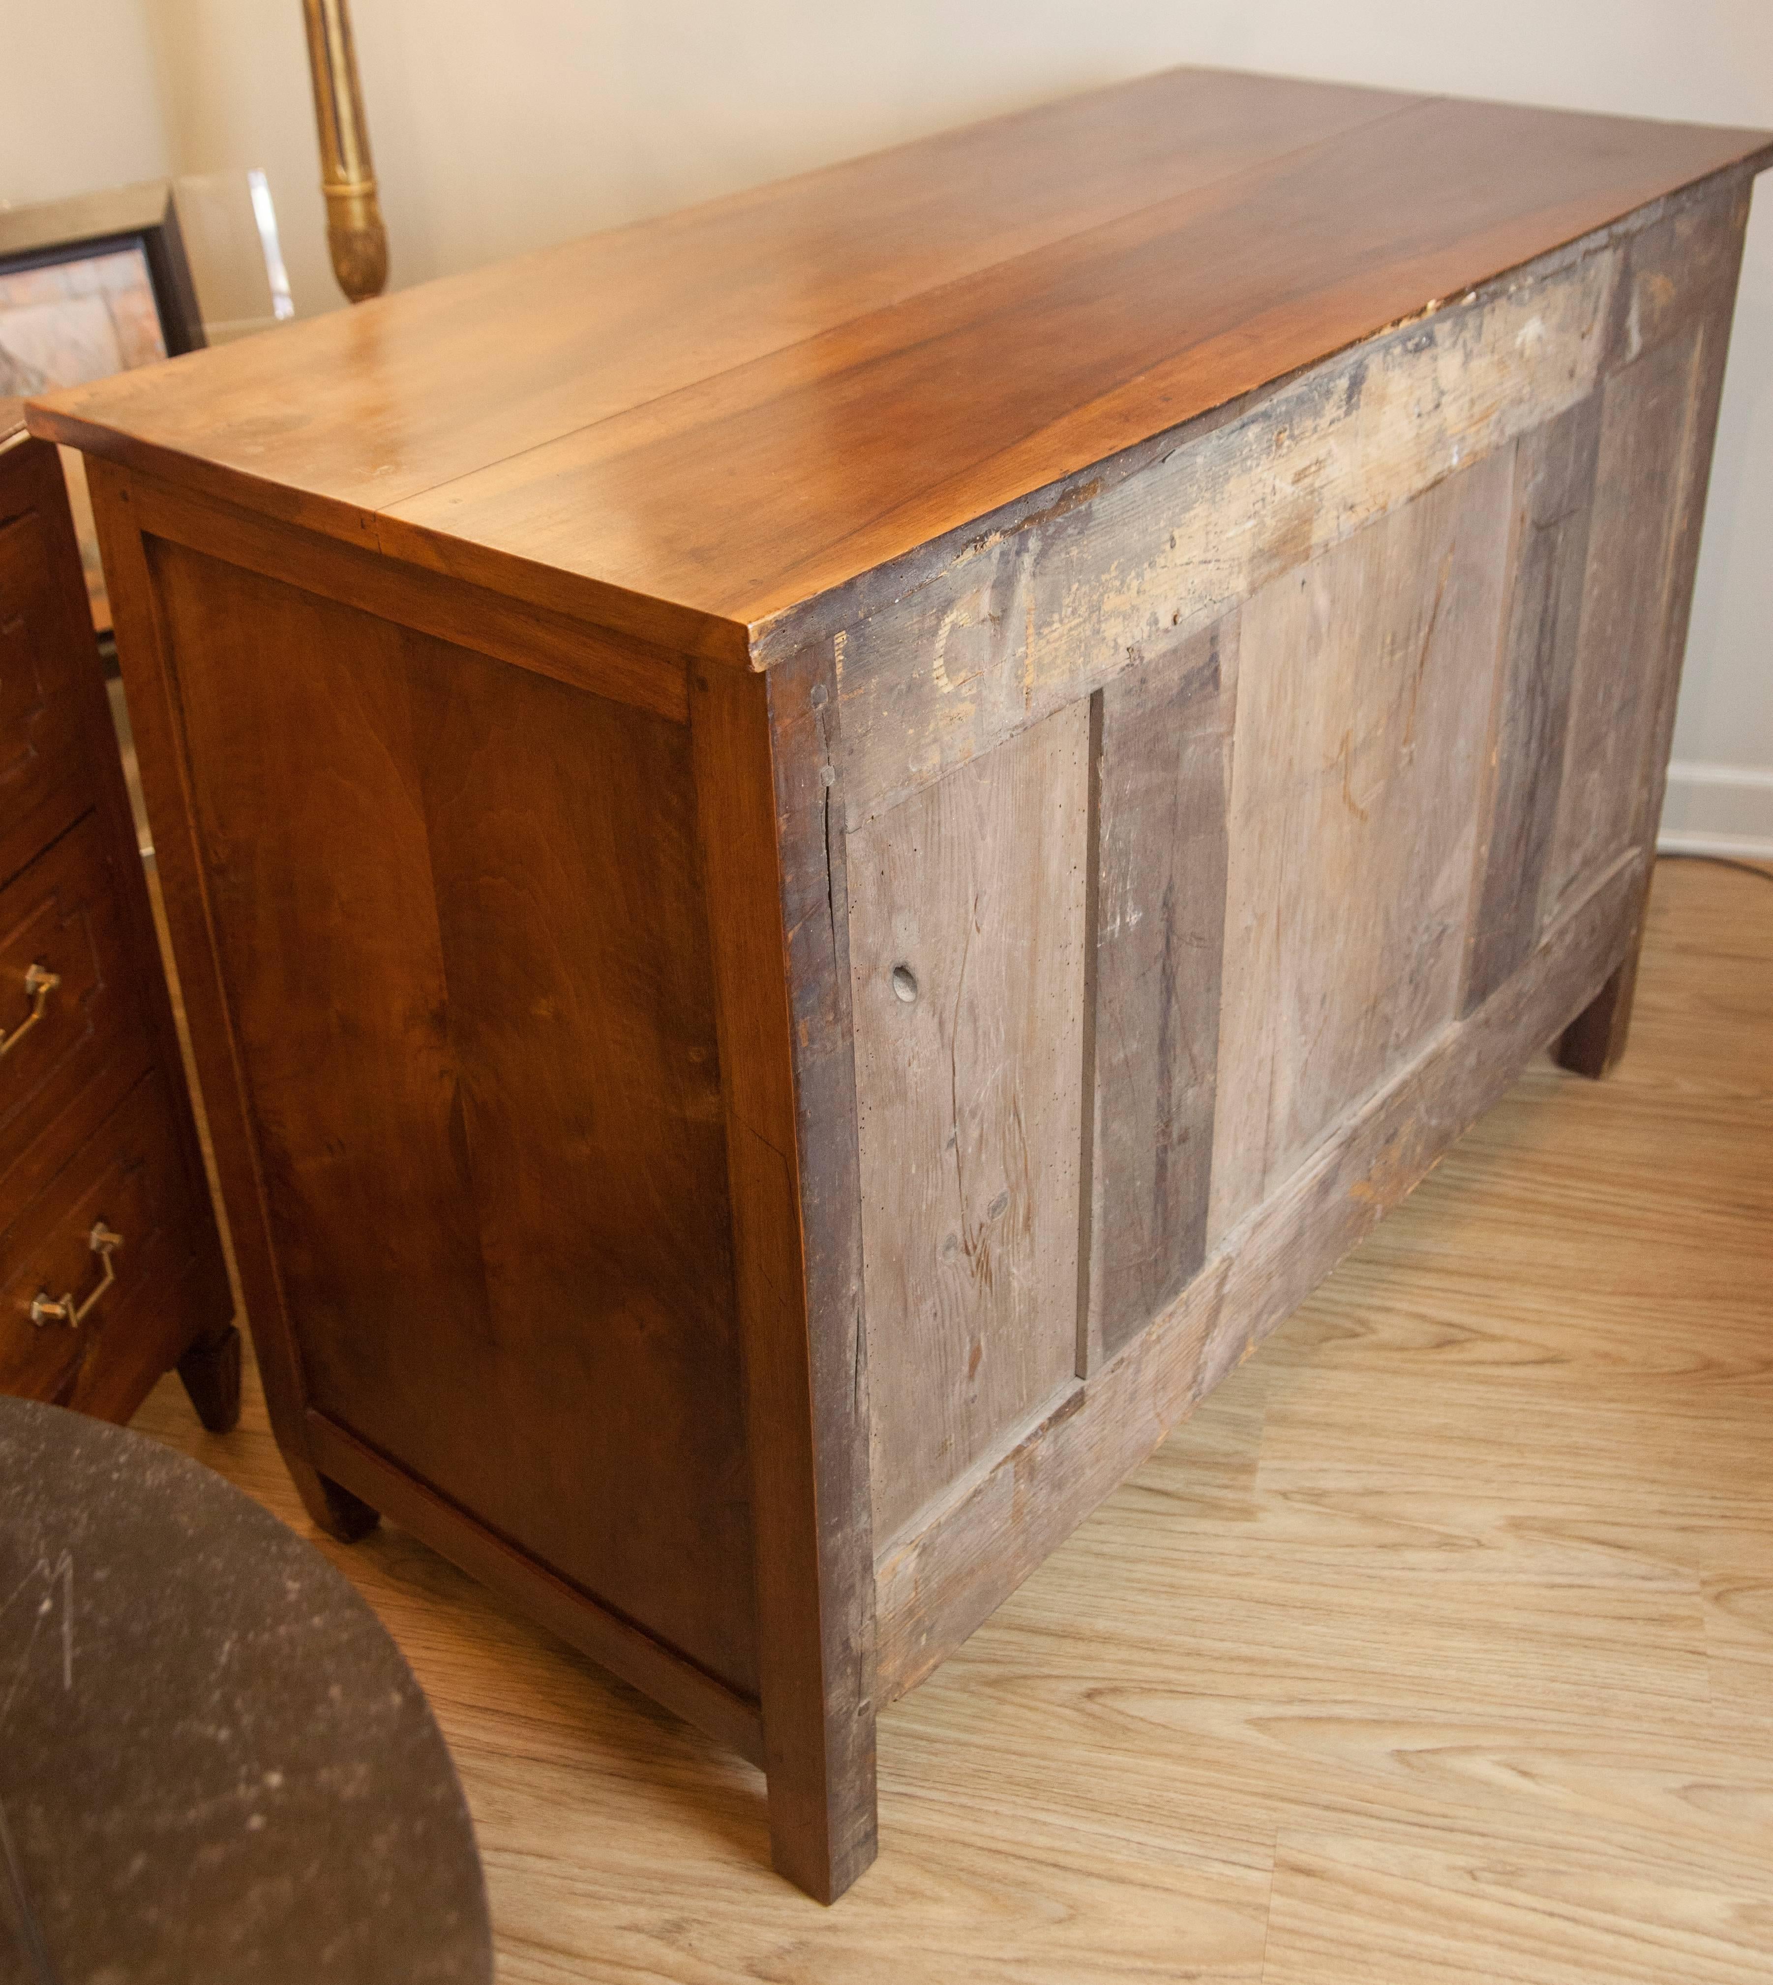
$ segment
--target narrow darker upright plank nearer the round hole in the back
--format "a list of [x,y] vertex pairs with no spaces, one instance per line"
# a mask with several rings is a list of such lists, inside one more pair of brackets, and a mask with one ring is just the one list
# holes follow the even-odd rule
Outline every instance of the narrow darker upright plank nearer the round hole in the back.
[[1100,699],[1084,1370],[1207,1251],[1237,619],[1124,669]]

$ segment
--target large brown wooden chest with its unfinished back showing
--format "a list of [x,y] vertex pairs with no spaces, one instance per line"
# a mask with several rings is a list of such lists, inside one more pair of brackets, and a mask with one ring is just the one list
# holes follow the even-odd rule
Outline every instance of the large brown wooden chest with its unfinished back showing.
[[1179,71],[36,407],[316,1519],[842,1892],[876,1705],[1618,1052],[1767,159]]

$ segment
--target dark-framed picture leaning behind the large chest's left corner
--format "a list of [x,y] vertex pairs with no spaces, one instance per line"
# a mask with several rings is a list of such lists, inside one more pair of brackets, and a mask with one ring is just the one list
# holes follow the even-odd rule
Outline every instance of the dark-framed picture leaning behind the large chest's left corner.
[[[205,343],[171,181],[0,208],[0,397],[151,365]],[[64,449],[93,625],[111,625],[79,457]]]

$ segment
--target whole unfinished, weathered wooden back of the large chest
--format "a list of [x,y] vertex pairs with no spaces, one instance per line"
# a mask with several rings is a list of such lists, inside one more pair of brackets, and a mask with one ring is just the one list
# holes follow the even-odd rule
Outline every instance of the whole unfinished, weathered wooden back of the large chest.
[[1624,957],[1743,218],[1551,256],[836,637],[884,1693]]

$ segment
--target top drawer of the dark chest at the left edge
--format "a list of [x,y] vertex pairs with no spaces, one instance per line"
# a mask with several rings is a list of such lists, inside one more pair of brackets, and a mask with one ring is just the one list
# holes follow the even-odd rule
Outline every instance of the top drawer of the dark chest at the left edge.
[[0,879],[87,806],[75,669],[97,655],[75,607],[85,601],[56,584],[42,512],[0,524]]

